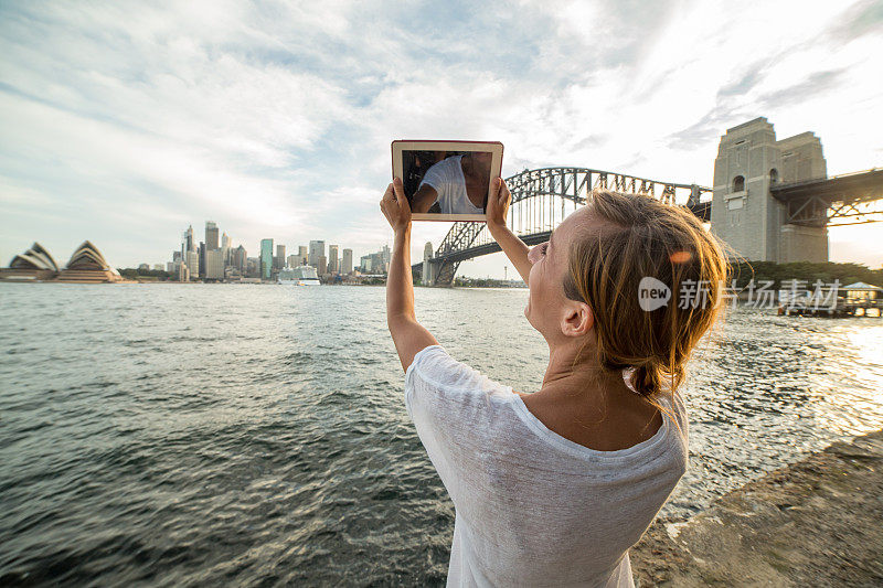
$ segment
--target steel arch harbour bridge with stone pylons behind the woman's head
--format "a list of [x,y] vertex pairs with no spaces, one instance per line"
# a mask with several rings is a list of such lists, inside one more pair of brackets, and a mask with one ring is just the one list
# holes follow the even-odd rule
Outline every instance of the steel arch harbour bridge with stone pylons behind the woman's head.
[[[746,124],[755,125],[748,130],[756,131],[756,126],[760,120],[766,124],[766,119],[755,119],[755,121]],[[742,129],[746,125],[734,129]],[[772,125],[769,127],[772,128]],[[727,135],[734,129],[730,129]],[[738,135],[735,138],[738,138]],[[804,153],[806,157],[795,159],[792,153],[800,154],[801,146],[798,145],[795,148],[787,142],[794,138],[783,139],[778,141],[781,143],[780,150],[792,149],[791,152],[785,151],[785,157],[780,157],[780,153],[775,151],[770,156],[767,153],[768,146],[764,148],[764,153],[767,153],[765,157],[772,161],[773,165],[781,167],[781,172],[776,168],[767,168],[766,165],[770,163],[762,161],[759,165],[765,173],[749,177],[748,173],[741,172],[738,167],[740,161],[745,165],[749,161],[747,157],[743,160],[738,154],[740,148],[745,141],[733,141],[736,145],[732,149],[733,153],[730,153],[728,147],[726,150],[723,148],[724,139],[726,136],[722,138],[722,149],[715,161],[715,185],[713,188],[649,180],[626,173],[587,168],[524,170],[506,179],[512,193],[512,202],[509,206],[509,228],[528,245],[543,243],[549,239],[549,235],[564,217],[578,206],[586,204],[594,189],[608,189],[632,194],[643,193],[668,204],[685,206],[703,222],[711,222],[711,231],[731,246],[733,244],[738,246],[740,239],[752,243],[769,240],[767,248],[773,252],[772,254],[767,254],[766,249],[759,254],[752,255],[749,253],[749,257],[742,254],[748,260],[827,261],[828,226],[883,221],[883,169],[875,168],[853,174],[819,178],[819,175],[823,175],[818,171],[821,145],[812,136],[811,139],[818,143],[817,156]],[[807,145],[815,147],[812,141],[805,140],[802,142],[806,143],[802,147]],[[795,161],[790,161],[789,157]],[[723,162],[722,158],[724,158]],[[758,167],[756,159],[755,157],[755,168]],[[808,162],[813,161],[816,168],[811,170]],[[726,173],[722,173],[719,168]],[[825,161],[821,159],[821,169],[823,170],[823,168]],[[728,175],[733,173],[736,175],[731,181]],[[783,179],[781,175],[786,178]],[[787,180],[789,175],[796,181],[783,181]],[[801,175],[804,175],[802,179]],[[807,175],[810,178],[806,179]],[[746,177],[748,177],[747,181]],[[712,213],[713,206],[715,207],[714,214]],[[769,218],[773,218],[774,222],[770,223]],[[715,224],[721,227],[720,231]],[[770,225],[777,226],[770,227]],[[758,233],[758,235],[753,235],[753,233]],[[767,239],[767,235],[773,236]],[[788,253],[794,249],[811,252],[813,244],[818,249],[822,238],[823,253],[817,253],[816,258],[792,258],[795,255],[801,254]],[[424,285],[450,286],[457,268],[462,261],[499,250],[499,245],[490,236],[485,223],[456,222],[432,255],[427,252],[425,261],[414,265],[412,271],[415,277],[421,278]],[[770,258],[770,256],[778,258]],[[427,275],[424,276],[424,272]]]

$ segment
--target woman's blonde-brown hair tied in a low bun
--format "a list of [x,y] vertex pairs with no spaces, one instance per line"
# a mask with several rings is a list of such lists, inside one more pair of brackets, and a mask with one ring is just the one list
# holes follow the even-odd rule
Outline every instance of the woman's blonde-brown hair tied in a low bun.
[[[574,239],[564,292],[595,314],[600,367],[632,368],[635,391],[660,407],[657,398],[683,383],[693,348],[717,319],[726,257],[683,206],[608,190],[593,191],[587,205],[602,222]],[[641,308],[645,277],[670,289],[667,304]]]

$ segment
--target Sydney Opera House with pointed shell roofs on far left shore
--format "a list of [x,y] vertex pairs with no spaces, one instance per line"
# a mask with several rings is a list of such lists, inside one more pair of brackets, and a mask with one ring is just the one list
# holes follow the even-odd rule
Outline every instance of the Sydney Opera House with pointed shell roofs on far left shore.
[[9,281],[65,281],[73,284],[106,284],[124,281],[119,272],[105,260],[102,252],[88,240],[76,248],[63,269],[39,243],[17,255],[9,267],[0,268],[0,279]]

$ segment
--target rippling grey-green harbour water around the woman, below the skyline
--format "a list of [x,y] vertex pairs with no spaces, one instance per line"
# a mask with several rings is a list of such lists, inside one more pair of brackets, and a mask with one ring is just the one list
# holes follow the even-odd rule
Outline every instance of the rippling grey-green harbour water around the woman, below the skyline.
[[[525,290],[416,297],[538,388]],[[732,311],[684,396],[674,517],[883,426],[883,320]],[[439,584],[454,514],[371,287],[0,285],[0,585]]]

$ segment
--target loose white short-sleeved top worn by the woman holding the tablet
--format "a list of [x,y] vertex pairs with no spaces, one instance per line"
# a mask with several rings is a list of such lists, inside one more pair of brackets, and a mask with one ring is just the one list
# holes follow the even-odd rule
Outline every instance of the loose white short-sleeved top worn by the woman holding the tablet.
[[628,548],[687,470],[675,395],[657,434],[596,451],[549,430],[509,386],[432,345],[405,404],[456,517],[448,586],[632,587]]

